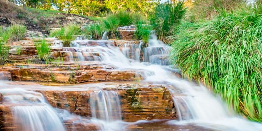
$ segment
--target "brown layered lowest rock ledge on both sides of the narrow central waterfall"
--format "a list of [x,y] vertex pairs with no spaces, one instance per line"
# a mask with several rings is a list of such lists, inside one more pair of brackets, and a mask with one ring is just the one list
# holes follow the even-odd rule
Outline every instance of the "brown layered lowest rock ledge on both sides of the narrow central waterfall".
[[[164,86],[108,83],[103,89],[114,90],[118,93],[121,98],[121,114],[124,121],[175,119],[177,117],[170,92]],[[88,100],[93,90],[38,91],[45,96],[53,107],[68,109],[70,112],[81,116],[91,116]]]

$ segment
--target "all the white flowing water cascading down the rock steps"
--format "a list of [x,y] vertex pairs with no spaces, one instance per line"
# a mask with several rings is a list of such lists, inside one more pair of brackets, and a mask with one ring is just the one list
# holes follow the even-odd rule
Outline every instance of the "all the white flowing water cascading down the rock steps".
[[[168,123],[170,131],[172,126],[178,127],[178,130],[187,130],[184,127],[190,126],[223,131],[262,130],[260,123],[248,121],[235,114],[219,96],[213,94],[208,88],[176,77],[166,59],[170,47],[155,37],[152,37],[149,47],[144,51],[145,62],[139,62],[139,45],[124,45],[121,51],[109,40],[75,40],[72,47],[78,49],[77,57],[80,61],[102,61],[113,65],[118,70],[142,70],[145,78],[143,82],[166,86],[172,94],[178,113],[178,120],[165,122],[165,124]],[[130,52],[132,52],[131,56]],[[70,57],[73,57],[73,54]],[[70,60],[73,61],[72,58]],[[1,88],[5,87],[2,85]],[[61,120],[63,118],[59,118],[56,109],[45,101],[41,93],[17,88],[1,89],[0,92],[5,94],[3,104],[10,105],[15,116],[15,123],[20,126],[21,130],[65,130]],[[115,91],[93,91],[90,93],[90,98],[88,102],[91,105],[91,121],[102,125],[103,131],[126,130],[130,123],[122,121],[119,96]],[[146,123],[149,123],[150,125],[154,122],[159,123],[137,121],[132,124],[147,125]]]

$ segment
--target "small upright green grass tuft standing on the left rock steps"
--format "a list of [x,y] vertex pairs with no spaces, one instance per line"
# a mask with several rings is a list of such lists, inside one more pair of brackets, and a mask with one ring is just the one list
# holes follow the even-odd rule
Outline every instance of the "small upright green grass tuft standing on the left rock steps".
[[50,45],[45,41],[45,39],[43,39],[43,40],[38,40],[35,46],[38,54],[38,59],[40,61],[47,62],[48,57],[50,56],[51,53]]

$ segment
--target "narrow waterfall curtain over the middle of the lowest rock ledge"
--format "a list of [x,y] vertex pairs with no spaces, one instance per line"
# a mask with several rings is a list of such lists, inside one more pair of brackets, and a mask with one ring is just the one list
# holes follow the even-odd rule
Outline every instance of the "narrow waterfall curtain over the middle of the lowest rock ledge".
[[90,93],[92,117],[107,122],[122,120],[119,96],[115,91],[94,91]]

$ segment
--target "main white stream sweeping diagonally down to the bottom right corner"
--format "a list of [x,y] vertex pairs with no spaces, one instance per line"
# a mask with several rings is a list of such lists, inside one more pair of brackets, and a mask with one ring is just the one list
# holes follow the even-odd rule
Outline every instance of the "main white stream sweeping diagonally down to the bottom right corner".
[[[83,46],[84,47],[84,46]],[[159,40],[150,40],[151,47],[166,47]],[[119,70],[143,70],[145,82],[166,85],[173,95],[180,116],[179,121],[171,121],[172,124],[197,124],[200,126],[219,130],[258,131],[262,130],[260,123],[248,121],[238,116],[211,93],[206,87],[177,78],[168,66],[150,65],[128,59],[126,53],[120,52],[118,47],[108,46],[101,49],[102,61],[118,67]],[[162,54],[166,54],[164,50]],[[125,51],[124,51],[125,52]],[[151,50],[151,56],[155,50]],[[178,95],[180,94],[180,95]],[[180,112],[179,112],[180,111]]]

